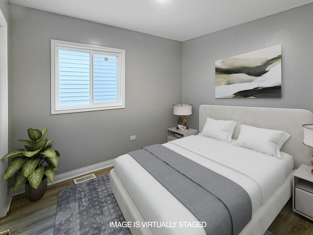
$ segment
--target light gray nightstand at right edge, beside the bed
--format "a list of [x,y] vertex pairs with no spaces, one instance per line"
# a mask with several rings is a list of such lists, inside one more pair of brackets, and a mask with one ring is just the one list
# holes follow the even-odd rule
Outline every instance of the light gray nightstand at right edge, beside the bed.
[[312,165],[302,164],[293,173],[292,210],[313,220],[313,169]]

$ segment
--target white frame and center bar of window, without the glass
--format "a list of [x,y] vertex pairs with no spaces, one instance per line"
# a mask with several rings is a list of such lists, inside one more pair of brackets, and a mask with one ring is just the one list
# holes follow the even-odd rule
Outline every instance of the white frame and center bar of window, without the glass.
[[[59,107],[59,48],[88,51],[92,53],[107,54],[117,57],[118,61],[118,101],[93,102],[93,90],[90,90],[91,102],[82,106]],[[91,58],[90,54],[90,58]],[[90,88],[93,88],[93,60],[90,61]],[[92,76],[92,77],[91,77]],[[80,113],[99,110],[125,108],[125,50],[111,47],[100,47],[80,43],[72,43],[51,39],[51,115]]]

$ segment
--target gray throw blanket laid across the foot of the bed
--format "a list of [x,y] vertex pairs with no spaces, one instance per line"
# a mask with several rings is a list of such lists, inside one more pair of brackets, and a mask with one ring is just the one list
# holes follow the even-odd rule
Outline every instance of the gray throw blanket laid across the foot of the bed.
[[200,222],[207,235],[237,235],[252,216],[246,190],[160,144],[129,153]]

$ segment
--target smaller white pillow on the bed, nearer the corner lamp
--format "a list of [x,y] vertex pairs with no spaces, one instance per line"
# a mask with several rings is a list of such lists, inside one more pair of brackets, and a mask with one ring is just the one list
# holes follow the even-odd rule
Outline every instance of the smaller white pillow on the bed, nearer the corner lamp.
[[236,124],[237,122],[231,120],[225,121],[206,118],[203,130],[199,135],[230,142]]

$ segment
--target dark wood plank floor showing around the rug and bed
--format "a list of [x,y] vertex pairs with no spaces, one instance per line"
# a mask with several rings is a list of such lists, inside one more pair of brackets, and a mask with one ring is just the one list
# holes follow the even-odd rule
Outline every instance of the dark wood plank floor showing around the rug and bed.
[[[94,173],[98,177],[111,169]],[[0,219],[0,232],[11,228],[10,235],[53,235],[58,191],[73,184],[73,180],[67,180],[50,185],[37,202],[29,202],[25,194],[13,197],[10,211]],[[268,230],[274,235],[313,235],[313,223],[294,213],[290,200]]]

